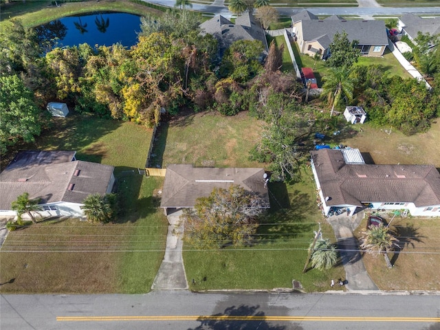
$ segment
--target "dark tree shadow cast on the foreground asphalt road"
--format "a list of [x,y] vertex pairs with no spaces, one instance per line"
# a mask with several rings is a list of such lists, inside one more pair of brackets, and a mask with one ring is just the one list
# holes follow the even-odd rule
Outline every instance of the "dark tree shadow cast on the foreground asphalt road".
[[[297,329],[302,330],[298,324],[289,323],[289,327],[285,325],[272,324],[265,320],[263,311],[259,311],[259,305],[248,306],[240,305],[239,307],[232,306],[225,309],[221,314],[214,314],[213,316],[201,316],[198,321],[201,322],[199,327],[190,328],[188,330],[287,330]],[[222,318],[222,319],[219,319]]]

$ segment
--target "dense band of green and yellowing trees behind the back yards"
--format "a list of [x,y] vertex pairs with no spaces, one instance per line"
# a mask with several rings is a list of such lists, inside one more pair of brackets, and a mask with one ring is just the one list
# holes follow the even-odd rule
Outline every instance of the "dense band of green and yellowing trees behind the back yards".
[[[249,110],[267,123],[250,157],[270,163],[274,179],[293,177],[307,156],[307,137],[324,116],[322,104],[303,106],[303,85],[281,71],[282,48],[272,43],[262,63],[260,41],[236,41],[219,61],[217,41],[202,36],[199,23],[201,17],[188,10],[144,17],[139,41],[130,49],[120,44],[95,49],[53,48],[12,19],[0,34],[1,151],[39,135],[48,115],[45,105],[54,100],[80,113],[146,126],[157,122],[161,107],[172,114],[182,107],[223,115]],[[436,89],[388,77],[384,67],[353,66],[359,54],[345,34],[331,47],[334,58],[344,58],[342,66],[333,61],[323,85],[336,109],[362,105],[376,124],[408,134],[427,129],[440,115]]]

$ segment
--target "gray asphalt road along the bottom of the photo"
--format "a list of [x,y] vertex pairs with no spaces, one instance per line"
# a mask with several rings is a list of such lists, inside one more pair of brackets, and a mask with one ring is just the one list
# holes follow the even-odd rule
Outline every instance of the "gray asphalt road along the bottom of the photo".
[[440,296],[2,295],[1,330],[439,330]]

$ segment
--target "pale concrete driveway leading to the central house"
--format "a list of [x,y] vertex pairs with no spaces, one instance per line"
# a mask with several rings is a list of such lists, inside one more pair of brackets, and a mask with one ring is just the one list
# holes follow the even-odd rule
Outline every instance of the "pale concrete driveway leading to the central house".
[[151,285],[152,290],[186,290],[188,282],[181,256],[184,227],[179,221],[181,211],[168,215],[165,255]]

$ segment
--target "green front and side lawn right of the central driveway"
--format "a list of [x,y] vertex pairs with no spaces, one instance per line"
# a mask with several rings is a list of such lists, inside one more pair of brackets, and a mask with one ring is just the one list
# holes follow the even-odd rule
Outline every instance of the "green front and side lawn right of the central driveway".
[[307,292],[321,292],[331,289],[331,278],[343,278],[342,266],[303,273],[307,248],[313,241],[314,230],[318,230],[316,222],[321,222],[323,236],[334,238],[333,230],[316,207],[310,175],[307,170],[303,181],[294,185],[270,184],[278,202],[272,198],[271,212],[260,225],[252,247],[197,251],[185,245],[184,263],[190,289],[292,289],[292,280],[296,280]]

